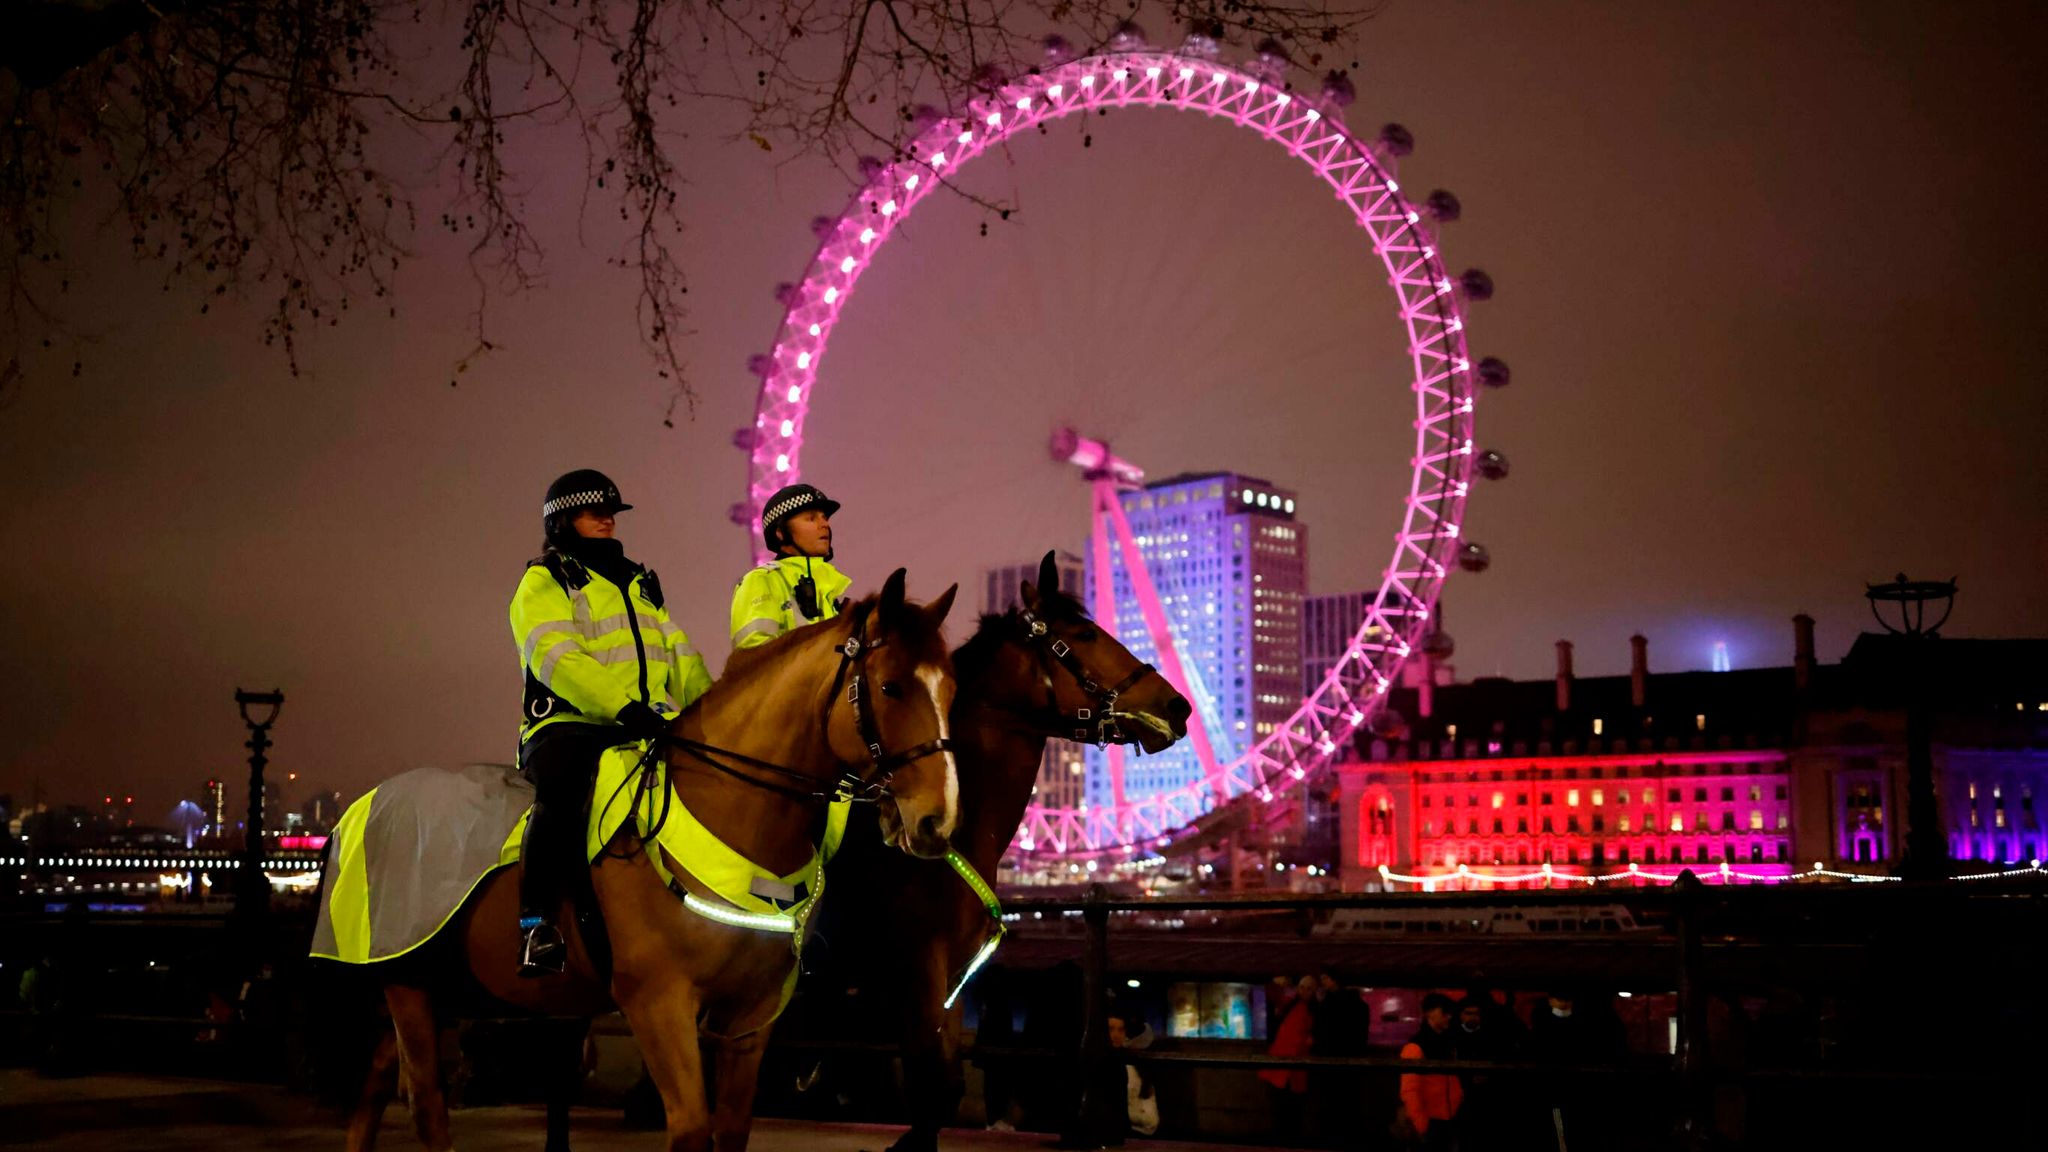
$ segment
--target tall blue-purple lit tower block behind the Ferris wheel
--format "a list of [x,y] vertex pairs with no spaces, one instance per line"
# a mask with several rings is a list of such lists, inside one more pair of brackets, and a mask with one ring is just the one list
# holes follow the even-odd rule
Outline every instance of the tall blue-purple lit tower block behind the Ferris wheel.
[[[1157,480],[1122,494],[1130,535],[1180,646],[1192,703],[1219,763],[1274,732],[1300,703],[1300,601],[1309,539],[1294,521],[1294,492],[1251,476],[1206,471]],[[1112,533],[1114,535],[1114,533]],[[1087,558],[1090,580],[1096,558]],[[1110,547],[1116,637],[1139,660],[1157,660],[1120,549]],[[1108,760],[1087,754],[1090,806],[1114,799]],[[1184,740],[1124,758],[1124,799],[1198,783]]]

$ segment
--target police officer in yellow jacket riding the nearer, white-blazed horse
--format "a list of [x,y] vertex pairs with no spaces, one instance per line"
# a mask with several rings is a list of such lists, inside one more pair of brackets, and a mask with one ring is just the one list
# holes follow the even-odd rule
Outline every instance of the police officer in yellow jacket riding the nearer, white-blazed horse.
[[584,801],[598,756],[657,740],[711,687],[705,658],[670,623],[655,574],[627,560],[614,517],[633,504],[602,471],[547,488],[547,543],[512,594],[512,642],[526,674],[520,773],[535,785],[520,845],[520,976],[561,972],[555,914],[584,865]]

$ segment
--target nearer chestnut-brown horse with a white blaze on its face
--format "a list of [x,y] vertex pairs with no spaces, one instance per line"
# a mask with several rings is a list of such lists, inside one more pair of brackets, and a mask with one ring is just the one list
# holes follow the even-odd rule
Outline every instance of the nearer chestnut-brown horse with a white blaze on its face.
[[[952,596],[948,588],[930,607],[905,603],[899,568],[846,615],[733,660],[670,730],[684,748],[668,752],[676,799],[725,845],[788,875],[817,847],[834,781],[852,773],[879,799],[893,847],[944,855],[958,804],[948,740],[954,681],[940,635]],[[666,865],[692,896],[719,902],[674,859]],[[631,820],[592,861],[590,883],[598,916],[580,922],[573,906],[557,916],[569,943],[559,976],[518,976],[516,867],[477,886],[442,929],[446,947],[373,970],[385,982],[395,1043],[379,1047],[350,1117],[350,1152],[375,1142],[395,1080],[393,1050],[412,1082],[420,1140],[432,1152],[453,1146],[434,1013],[465,986],[481,986],[496,1011],[588,1019],[623,1009],[668,1109],[668,1146],[745,1148],[762,1050],[795,965],[791,937],[688,910],[662,883]],[[715,1101],[700,1039],[717,1054]],[[565,1146],[565,1134],[549,1127],[549,1146]]]

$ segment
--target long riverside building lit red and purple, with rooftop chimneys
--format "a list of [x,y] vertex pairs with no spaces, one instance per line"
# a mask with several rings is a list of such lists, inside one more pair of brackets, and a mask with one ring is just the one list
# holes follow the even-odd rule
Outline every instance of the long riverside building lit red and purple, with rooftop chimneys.
[[[1929,668],[1939,818],[1970,867],[2048,859],[2048,642],[1862,635],[1812,660],[1794,621],[1782,668],[1397,689],[1407,730],[1337,765],[1339,879],[1380,869],[1432,886],[1544,886],[1550,875],[1681,867],[1731,883],[1810,871],[1890,873],[1905,851],[1905,705]],[[1425,697],[1430,697],[1425,701]]]

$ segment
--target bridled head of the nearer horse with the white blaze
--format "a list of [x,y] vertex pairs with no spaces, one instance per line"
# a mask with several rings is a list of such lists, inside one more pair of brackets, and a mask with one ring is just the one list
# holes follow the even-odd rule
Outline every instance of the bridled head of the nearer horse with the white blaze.
[[952,658],[940,625],[958,586],[930,605],[903,599],[903,570],[889,574],[879,596],[848,611],[858,629],[860,687],[856,707],[840,709],[834,752],[866,765],[877,789],[883,838],[915,857],[946,855],[961,814],[961,777],[952,763]]

